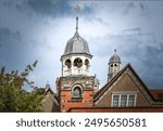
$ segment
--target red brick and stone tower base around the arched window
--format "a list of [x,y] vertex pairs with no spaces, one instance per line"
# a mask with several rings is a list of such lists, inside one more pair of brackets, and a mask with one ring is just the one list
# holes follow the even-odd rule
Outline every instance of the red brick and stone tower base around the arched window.
[[[61,77],[60,79],[60,107],[67,112],[71,107],[90,107],[93,105],[93,76]],[[87,82],[86,82],[87,81]],[[72,89],[80,86],[83,96],[80,102],[72,101]]]

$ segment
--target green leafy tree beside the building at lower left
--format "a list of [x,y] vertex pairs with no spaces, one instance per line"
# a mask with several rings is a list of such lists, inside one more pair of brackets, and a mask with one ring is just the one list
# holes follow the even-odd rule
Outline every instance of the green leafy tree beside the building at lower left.
[[27,76],[36,67],[37,61],[27,65],[23,73],[18,71],[5,73],[4,67],[0,70],[0,112],[21,112],[34,113],[42,110],[43,89],[33,88],[33,91],[27,92],[22,89],[24,83],[33,87],[34,81],[29,81]]

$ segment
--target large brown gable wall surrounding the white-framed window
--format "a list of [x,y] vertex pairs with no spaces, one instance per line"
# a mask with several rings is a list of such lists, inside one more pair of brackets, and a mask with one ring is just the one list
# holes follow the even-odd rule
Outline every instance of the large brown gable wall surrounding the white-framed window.
[[136,106],[150,106],[153,97],[131,66],[126,65],[96,95],[96,106],[110,107],[113,94],[136,94]]

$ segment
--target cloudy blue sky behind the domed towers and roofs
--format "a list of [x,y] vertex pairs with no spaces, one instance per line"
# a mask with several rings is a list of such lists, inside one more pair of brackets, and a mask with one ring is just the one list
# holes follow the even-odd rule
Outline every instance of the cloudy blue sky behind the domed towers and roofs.
[[0,67],[23,70],[38,60],[29,79],[38,87],[49,81],[54,90],[60,57],[75,32],[76,4],[101,87],[116,49],[121,68],[130,63],[149,88],[163,88],[162,0],[0,0]]

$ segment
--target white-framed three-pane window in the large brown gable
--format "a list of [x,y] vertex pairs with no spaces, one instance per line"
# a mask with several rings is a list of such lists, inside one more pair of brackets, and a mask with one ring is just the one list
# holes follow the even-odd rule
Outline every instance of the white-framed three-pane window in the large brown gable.
[[112,94],[112,107],[136,106],[136,94]]

